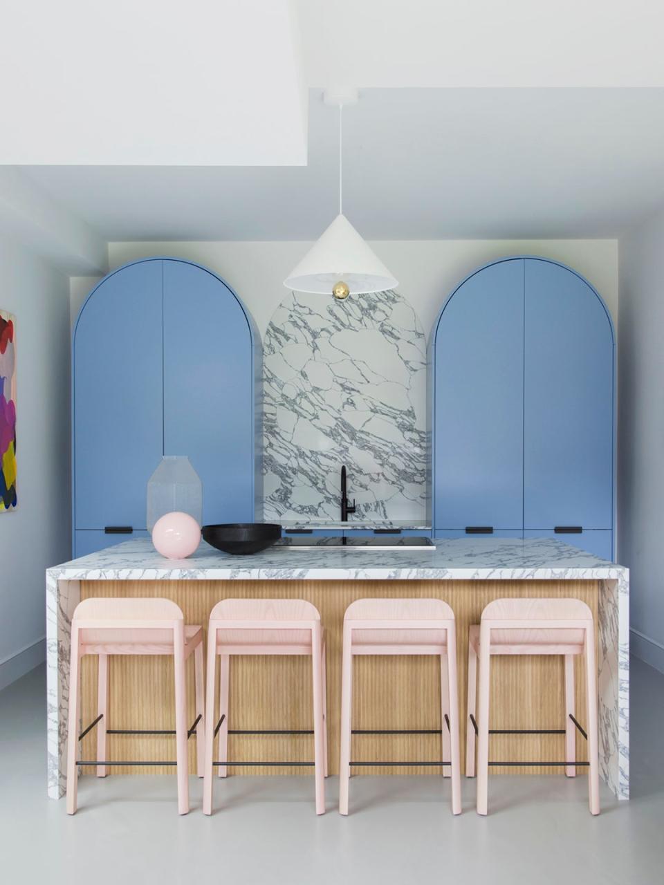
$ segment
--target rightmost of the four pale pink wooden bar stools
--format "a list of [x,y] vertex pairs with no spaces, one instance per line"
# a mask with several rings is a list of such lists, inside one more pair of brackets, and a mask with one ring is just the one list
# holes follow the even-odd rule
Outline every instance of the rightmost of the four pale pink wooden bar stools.
[[[565,658],[565,762],[520,762],[507,765],[565,766],[574,777],[576,766],[587,766],[591,814],[599,813],[597,675],[595,626],[590,608],[580,599],[494,599],[482,612],[480,626],[468,635],[467,777],[475,775],[477,748],[477,812],[487,813],[489,766],[489,695],[491,655],[563,655]],[[588,733],[575,719],[574,658],[585,656]],[[477,658],[480,661],[479,722],[475,720]],[[588,762],[576,761],[575,730],[588,741]],[[520,732],[523,729],[518,729]],[[549,732],[551,729],[544,729]],[[509,734],[509,730],[506,732]],[[541,733],[533,729],[533,734]]]

